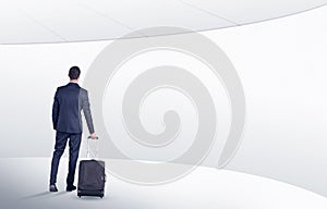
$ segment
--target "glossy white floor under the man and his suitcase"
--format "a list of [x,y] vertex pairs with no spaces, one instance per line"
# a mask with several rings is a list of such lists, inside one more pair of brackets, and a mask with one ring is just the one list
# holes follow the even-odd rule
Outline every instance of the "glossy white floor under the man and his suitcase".
[[64,192],[68,160],[62,159],[59,193],[48,190],[50,159],[0,159],[1,208],[142,209],[326,209],[327,198],[277,181],[213,168],[197,168],[184,179],[141,186],[108,176],[106,197],[78,198]]

